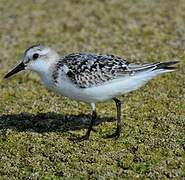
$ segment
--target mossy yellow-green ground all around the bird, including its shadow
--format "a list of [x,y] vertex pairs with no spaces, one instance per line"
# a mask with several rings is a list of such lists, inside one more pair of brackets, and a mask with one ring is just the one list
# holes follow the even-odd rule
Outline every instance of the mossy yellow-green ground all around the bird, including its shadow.
[[[185,3],[183,0],[0,1],[0,179],[185,178]],[[162,75],[122,96],[123,131],[113,102],[90,108],[48,92],[37,75],[4,74],[23,50],[45,43],[61,55],[112,53],[137,62],[179,59]]]

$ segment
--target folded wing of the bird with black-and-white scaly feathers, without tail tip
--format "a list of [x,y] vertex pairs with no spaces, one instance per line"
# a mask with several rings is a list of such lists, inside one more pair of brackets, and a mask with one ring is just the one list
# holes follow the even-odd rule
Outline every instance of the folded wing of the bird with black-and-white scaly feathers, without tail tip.
[[65,56],[59,65],[67,67],[67,77],[78,87],[98,86],[118,77],[151,69],[153,64],[134,65],[114,55],[74,53]]

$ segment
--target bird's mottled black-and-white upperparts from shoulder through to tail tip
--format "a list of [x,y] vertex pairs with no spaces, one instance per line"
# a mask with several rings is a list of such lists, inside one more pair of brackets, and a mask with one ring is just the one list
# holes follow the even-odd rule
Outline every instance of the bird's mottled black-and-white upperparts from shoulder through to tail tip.
[[149,77],[155,76],[155,73],[170,72],[175,69],[171,67],[175,63],[177,61],[136,65],[114,55],[73,53],[57,62],[53,78],[57,83],[60,81],[59,72],[64,71],[77,87],[90,88],[119,78],[131,78],[141,73],[144,75],[145,72]]

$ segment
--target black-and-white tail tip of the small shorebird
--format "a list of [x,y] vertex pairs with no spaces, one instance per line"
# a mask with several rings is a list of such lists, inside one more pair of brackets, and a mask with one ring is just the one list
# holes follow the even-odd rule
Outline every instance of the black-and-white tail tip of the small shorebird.
[[159,62],[154,64],[156,67],[152,71],[161,70],[161,72],[171,72],[177,69],[177,67],[173,66],[177,63],[179,63],[179,61]]

